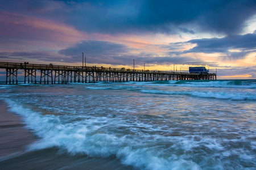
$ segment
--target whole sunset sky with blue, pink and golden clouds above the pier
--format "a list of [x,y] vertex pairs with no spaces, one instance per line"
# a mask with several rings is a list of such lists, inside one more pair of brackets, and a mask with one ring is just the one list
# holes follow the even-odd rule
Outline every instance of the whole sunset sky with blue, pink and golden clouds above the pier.
[[[256,79],[255,0],[0,0],[0,62]],[[0,79],[5,78],[0,70]]]

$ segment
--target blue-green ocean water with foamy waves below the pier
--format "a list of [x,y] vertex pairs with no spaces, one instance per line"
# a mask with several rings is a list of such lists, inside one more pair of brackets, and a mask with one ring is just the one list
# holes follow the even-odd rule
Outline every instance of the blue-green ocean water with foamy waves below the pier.
[[35,141],[0,169],[256,169],[255,79],[4,83]]

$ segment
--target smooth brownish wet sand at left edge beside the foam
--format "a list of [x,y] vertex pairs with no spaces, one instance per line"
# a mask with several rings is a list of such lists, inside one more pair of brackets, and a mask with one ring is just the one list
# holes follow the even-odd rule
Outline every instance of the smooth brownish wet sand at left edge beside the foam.
[[18,154],[36,141],[36,137],[24,126],[22,118],[9,112],[5,101],[0,100],[0,157]]

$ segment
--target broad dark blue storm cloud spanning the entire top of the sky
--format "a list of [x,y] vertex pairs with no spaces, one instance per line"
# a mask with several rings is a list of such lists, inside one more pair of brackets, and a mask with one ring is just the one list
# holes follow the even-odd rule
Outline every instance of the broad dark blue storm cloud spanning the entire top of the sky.
[[[239,33],[256,14],[254,0],[180,1],[2,1],[0,8],[73,25],[86,32],[144,33],[201,31]],[[13,5],[15,4],[15,5]]]

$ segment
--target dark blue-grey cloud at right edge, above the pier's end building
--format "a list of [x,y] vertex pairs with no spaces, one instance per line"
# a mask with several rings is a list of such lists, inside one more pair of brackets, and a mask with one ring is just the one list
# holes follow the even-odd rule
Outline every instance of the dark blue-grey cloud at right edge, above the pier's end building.
[[[226,36],[222,39],[193,39],[187,42],[196,46],[184,53],[224,53],[226,57],[240,59],[256,51],[256,33]],[[240,50],[240,52],[232,52],[232,50]]]

